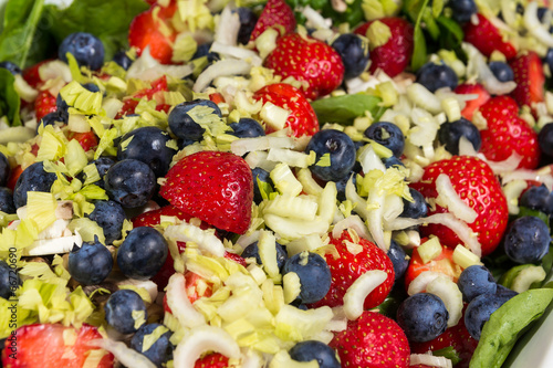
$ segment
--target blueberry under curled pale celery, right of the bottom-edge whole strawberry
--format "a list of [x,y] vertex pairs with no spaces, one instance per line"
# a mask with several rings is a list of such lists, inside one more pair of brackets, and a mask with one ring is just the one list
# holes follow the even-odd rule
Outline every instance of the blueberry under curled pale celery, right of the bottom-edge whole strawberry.
[[419,293],[406,298],[397,309],[397,323],[414,343],[426,343],[442,334],[449,313],[434,294]]

